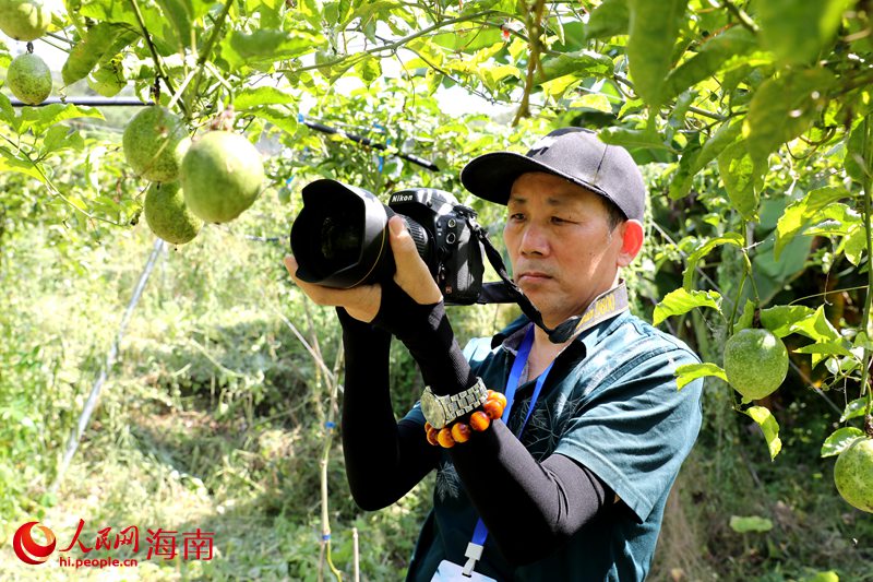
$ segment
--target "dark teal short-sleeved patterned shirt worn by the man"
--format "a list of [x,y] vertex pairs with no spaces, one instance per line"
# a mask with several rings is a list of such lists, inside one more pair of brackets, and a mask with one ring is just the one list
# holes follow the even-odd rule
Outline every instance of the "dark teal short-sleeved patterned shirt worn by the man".
[[[527,326],[518,318],[464,354],[488,388],[503,392]],[[489,537],[476,571],[500,581],[643,580],[655,553],[667,496],[701,427],[703,380],[681,391],[674,371],[699,359],[681,341],[623,311],[584,331],[555,359],[522,442],[537,460],[552,453],[593,471],[621,499],[562,547],[513,568]],[[516,432],[536,379],[518,387],[509,428]],[[424,424],[419,404],[407,419]],[[511,512],[512,508],[506,508]],[[441,560],[464,565],[476,512],[446,453],[436,471],[433,510],[407,580],[429,581]]]

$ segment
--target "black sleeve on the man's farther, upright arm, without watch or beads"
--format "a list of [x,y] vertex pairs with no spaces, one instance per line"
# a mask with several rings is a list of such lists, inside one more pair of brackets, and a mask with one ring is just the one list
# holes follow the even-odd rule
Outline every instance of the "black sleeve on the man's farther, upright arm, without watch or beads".
[[391,335],[337,309],[343,325],[346,382],[343,396],[343,454],[355,502],[387,507],[436,466],[439,449],[416,423],[394,419],[388,390]]

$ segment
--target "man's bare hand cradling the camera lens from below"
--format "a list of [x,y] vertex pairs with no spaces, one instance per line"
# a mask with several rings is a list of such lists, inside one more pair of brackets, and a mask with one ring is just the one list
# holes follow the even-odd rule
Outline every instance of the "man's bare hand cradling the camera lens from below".
[[[388,231],[391,251],[397,265],[394,273],[397,286],[419,305],[432,305],[442,300],[440,288],[428,271],[428,265],[418,256],[415,241],[403,224],[403,218],[393,216],[388,222]],[[368,323],[379,313],[382,304],[382,286],[379,284],[334,289],[307,283],[297,278],[297,261],[294,257],[285,258],[285,269],[297,286],[318,305],[343,307],[352,318]]]

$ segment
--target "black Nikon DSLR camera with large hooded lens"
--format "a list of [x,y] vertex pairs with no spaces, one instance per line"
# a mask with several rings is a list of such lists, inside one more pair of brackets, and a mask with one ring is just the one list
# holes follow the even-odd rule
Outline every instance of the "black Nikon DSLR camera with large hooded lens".
[[479,299],[483,231],[476,212],[451,193],[399,190],[385,205],[362,188],[322,179],[308,183],[302,194],[303,210],[290,237],[301,280],[343,289],[390,281],[396,266],[387,223],[397,214],[445,302],[471,305]]

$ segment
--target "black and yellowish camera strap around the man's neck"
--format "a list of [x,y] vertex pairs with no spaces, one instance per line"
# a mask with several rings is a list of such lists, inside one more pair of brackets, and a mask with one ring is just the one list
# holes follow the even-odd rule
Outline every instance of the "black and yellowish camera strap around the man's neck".
[[[482,285],[482,290],[479,294],[477,302],[517,304],[518,307],[522,308],[522,312],[527,316],[534,324],[549,334],[549,341],[553,344],[562,344],[582,332],[586,326],[590,326],[627,308],[627,290],[622,283],[619,287],[610,289],[607,294],[591,301],[591,305],[585,313],[567,318],[554,329],[548,328],[542,321],[542,314],[539,312],[539,309],[530,302],[525,292],[510,277],[506,272],[506,265],[503,264],[503,258],[491,244],[491,240],[488,238],[488,233],[474,221],[468,219],[467,224],[475,233],[476,238],[479,239],[479,242],[481,242],[485,254],[488,257],[488,262],[491,263],[491,266],[494,268],[494,271],[497,271],[501,280],[501,283],[486,283]],[[607,298],[607,295],[611,298],[610,305],[601,306],[602,308],[599,309],[600,312],[598,312],[598,309],[593,310],[593,308],[597,308],[600,305],[601,298]],[[596,318],[597,321],[594,321],[593,318]]]

